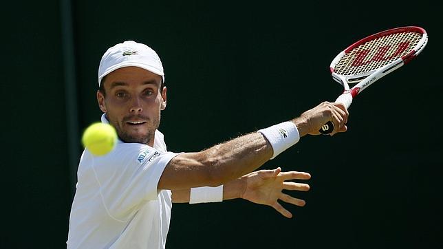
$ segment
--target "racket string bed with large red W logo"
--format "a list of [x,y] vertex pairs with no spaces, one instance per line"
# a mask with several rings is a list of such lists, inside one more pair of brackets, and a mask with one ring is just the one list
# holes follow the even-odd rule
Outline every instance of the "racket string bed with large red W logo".
[[341,75],[371,72],[411,52],[421,38],[418,32],[401,32],[367,41],[345,54],[334,71]]

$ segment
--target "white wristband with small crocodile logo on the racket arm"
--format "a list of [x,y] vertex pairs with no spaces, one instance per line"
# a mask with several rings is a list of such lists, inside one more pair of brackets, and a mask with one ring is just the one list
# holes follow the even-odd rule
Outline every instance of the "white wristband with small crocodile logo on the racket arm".
[[274,155],[272,155],[271,159],[274,159],[300,140],[299,130],[291,121],[272,125],[272,127],[261,129],[258,132],[266,137],[274,150]]

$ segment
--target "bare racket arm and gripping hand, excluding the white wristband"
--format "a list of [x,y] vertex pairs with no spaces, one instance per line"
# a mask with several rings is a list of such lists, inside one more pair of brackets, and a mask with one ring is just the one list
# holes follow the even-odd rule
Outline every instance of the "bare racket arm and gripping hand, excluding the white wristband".
[[[323,102],[291,120],[300,136],[318,134],[328,121],[337,132],[346,131],[347,111],[342,104]],[[158,183],[159,189],[180,190],[219,186],[259,168],[273,155],[272,146],[261,133],[250,133],[197,153],[182,153],[169,162]]]

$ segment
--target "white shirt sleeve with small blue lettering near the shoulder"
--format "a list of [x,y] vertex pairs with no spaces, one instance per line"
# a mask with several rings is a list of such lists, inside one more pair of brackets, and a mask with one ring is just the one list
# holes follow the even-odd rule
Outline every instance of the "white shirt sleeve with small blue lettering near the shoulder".
[[102,202],[116,219],[158,198],[158,181],[169,161],[177,155],[144,144],[118,144],[105,157],[98,157],[94,171]]

